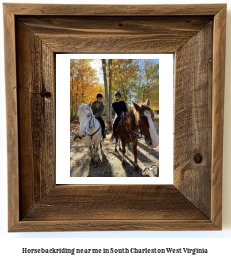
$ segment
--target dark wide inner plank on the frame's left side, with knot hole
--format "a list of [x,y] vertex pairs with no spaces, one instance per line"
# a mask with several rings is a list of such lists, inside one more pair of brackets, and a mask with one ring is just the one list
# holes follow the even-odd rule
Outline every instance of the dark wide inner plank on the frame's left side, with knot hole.
[[16,20],[20,217],[55,186],[54,54]]

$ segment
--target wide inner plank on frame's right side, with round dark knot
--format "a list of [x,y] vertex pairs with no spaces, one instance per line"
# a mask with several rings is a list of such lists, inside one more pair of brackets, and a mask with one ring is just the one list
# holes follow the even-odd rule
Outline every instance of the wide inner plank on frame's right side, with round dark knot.
[[[174,185],[211,217],[212,58],[210,22],[176,52]],[[196,163],[195,155],[202,156]]]

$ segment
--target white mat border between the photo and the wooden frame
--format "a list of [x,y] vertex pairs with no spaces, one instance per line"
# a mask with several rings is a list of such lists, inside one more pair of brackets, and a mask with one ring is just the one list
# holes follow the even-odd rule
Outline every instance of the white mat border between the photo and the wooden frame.
[[[160,174],[158,178],[70,177],[70,59],[104,58],[159,59]],[[64,88],[66,88],[65,92]],[[56,184],[173,184],[173,54],[56,55]]]

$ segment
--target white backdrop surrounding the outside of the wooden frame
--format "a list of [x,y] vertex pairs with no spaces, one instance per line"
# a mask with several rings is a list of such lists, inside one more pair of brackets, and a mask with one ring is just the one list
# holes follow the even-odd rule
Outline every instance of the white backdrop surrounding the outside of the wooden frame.
[[[163,260],[168,257],[171,260],[211,260],[216,258],[218,260],[230,260],[231,253],[231,2],[223,0],[182,0],[182,1],[129,1],[129,0],[117,0],[117,1],[37,1],[39,3],[72,3],[72,4],[193,4],[193,3],[228,3],[227,13],[227,29],[226,29],[226,89],[225,89],[225,129],[224,129],[224,149],[223,149],[223,230],[222,231],[132,231],[132,232],[57,232],[57,233],[8,233],[7,232],[7,165],[6,165],[6,117],[5,117],[5,88],[4,88],[4,61],[3,61],[3,25],[2,25],[2,0],[0,5],[0,254],[1,256],[8,255],[3,260],[11,260],[13,258],[24,260],[41,260],[41,258],[48,260],[51,256],[37,256],[37,255],[20,255],[22,247],[85,247],[85,248],[96,248],[96,247],[129,247],[131,243],[135,247],[207,247],[209,254],[196,255],[196,256],[185,256],[185,255],[164,255],[162,257],[152,255],[133,255],[127,256],[126,254],[121,255],[110,255],[110,256],[94,256],[94,259],[112,259],[123,260],[129,257],[145,258],[145,260]],[[11,2],[5,0],[4,2]],[[17,1],[15,1],[17,2]],[[32,1],[20,1],[29,3]],[[7,239],[8,238],[8,239]],[[52,239],[50,239],[52,238]],[[97,238],[97,239],[96,239]],[[56,260],[63,260],[71,258],[78,258],[77,256],[56,256]],[[79,257],[80,258],[80,257]],[[88,256],[81,257],[81,260],[89,259]],[[93,256],[90,256],[93,258]]]

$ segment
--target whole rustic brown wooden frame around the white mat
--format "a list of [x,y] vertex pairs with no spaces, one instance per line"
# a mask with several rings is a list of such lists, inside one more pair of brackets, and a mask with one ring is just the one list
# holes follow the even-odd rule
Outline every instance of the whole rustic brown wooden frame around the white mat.
[[[221,230],[226,4],[3,4],[8,229]],[[55,184],[55,53],[175,53],[173,185]]]

